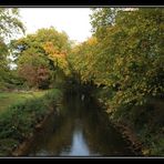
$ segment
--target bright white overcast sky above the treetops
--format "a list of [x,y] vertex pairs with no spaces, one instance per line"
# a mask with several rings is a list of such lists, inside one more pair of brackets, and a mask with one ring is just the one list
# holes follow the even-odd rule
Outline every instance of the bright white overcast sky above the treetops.
[[27,34],[41,28],[54,27],[78,42],[91,37],[90,13],[89,8],[20,8]]

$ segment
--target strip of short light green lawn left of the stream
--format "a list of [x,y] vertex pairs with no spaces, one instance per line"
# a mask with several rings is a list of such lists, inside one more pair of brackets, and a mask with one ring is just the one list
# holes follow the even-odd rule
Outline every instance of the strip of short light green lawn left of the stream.
[[0,92],[0,113],[16,103],[24,102],[29,99],[41,98],[49,91],[30,91],[30,92]]

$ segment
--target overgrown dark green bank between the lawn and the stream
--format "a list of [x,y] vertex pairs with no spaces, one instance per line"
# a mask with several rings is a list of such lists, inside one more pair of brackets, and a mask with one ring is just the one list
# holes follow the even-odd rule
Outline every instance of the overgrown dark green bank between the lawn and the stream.
[[24,96],[28,99],[20,99],[0,114],[0,156],[10,155],[23,143],[61,99],[59,90],[41,94]]

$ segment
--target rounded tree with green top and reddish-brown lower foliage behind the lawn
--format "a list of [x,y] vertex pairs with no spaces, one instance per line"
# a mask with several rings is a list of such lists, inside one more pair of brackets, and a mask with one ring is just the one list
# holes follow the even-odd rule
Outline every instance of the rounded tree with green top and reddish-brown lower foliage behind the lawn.
[[51,72],[48,60],[30,49],[19,58],[18,73],[30,88],[48,89],[50,85]]

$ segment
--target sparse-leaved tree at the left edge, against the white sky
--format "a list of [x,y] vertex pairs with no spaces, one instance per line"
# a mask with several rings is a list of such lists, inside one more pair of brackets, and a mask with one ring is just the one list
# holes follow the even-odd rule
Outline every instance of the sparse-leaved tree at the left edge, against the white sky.
[[[24,32],[24,27],[19,19],[18,9],[0,9],[0,85],[8,88],[10,82],[9,48],[7,41],[18,32]],[[0,89],[0,90],[1,90]]]

